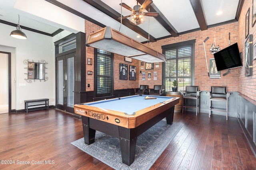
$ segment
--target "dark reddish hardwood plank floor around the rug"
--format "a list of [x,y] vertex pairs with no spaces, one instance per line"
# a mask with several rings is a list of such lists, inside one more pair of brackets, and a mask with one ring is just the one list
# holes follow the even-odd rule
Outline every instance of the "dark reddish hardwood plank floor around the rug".
[[[256,169],[236,118],[187,112],[175,113],[174,122],[184,126],[151,170]],[[0,169],[112,170],[70,144],[82,137],[82,121],[59,110],[0,114],[0,160],[8,163]]]

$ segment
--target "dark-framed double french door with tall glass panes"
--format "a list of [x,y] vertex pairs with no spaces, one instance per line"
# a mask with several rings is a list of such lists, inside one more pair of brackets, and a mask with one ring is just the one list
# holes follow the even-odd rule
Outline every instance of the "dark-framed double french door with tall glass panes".
[[56,58],[56,108],[74,113],[74,60],[76,53]]

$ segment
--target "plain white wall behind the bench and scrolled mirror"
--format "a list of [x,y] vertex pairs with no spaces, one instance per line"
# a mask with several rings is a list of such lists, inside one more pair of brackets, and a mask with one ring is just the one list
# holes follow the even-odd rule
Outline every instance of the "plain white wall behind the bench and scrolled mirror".
[[[11,52],[12,62],[12,109],[24,109],[24,100],[49,98],[49,105],[55,105],[55,52],[53,38],[50,36],[22,30],[27,39],[10,37],[16,27],[0,23],[0,51]],[[24,60],[35,62],[45,60],[47,81],[35,80],[32,83],[24,80],[27,75]],[[16,79],[16,82],[14,81]],[[21,87],[20,84],[26,86]],[[22,101],[22,104],[20,102]]]

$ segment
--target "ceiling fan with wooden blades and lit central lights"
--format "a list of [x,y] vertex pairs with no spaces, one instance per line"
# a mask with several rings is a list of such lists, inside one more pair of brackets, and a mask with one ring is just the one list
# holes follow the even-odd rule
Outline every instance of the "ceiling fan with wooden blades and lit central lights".
[[120,6],[132,11],[132,14],[124,17],[119,17],[118,19],[121,20],[121,19],[130,17],[129,19],[130,23],[132,23],[133,25],[139,25],[141,23],[144,23],[145,21],[144,16],[153,16],[153,17],[158,16],[158,12],[143,12],[152,3],[153,3],[152,0],[145,0],[145,2],[140,6],[138,5],[138,0],[137,0],[137,5],[135,5],[133,8],[126,5],[125,3],[121,3]]

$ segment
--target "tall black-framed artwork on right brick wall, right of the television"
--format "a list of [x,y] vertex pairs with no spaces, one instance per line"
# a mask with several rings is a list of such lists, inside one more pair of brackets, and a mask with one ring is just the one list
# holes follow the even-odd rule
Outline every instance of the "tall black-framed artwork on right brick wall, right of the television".
[[244,43],[244,70],[245,76],[252,75],[252,34],[248,36]]

